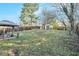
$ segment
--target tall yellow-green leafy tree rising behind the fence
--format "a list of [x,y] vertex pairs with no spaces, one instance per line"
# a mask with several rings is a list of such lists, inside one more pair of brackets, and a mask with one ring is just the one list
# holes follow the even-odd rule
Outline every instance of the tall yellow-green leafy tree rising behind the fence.
[[22,8],[21,12],[21,21],[23,21],[24,24],[30,23],[32,25],[32,22],[37,17],[34,12],[38,10],[38,4],[36,3],[25,3],[24,7]]

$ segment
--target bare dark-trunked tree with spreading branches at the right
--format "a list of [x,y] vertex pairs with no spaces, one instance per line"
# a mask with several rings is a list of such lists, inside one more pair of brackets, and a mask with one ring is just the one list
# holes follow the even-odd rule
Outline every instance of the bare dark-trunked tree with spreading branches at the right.
[[65,15],[67,16],[67,18],[69,19],[69,23],[71,26],[71,31],[74,31],[74,16],[75,16],[75,4],[74,3],[69,3],[69,4],[60,4],[63,12],[65,13]]

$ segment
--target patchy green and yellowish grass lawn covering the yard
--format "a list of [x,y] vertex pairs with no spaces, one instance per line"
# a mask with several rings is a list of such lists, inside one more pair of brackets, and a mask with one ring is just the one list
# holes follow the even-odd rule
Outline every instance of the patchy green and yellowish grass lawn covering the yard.
[[0,41],[0,55],[8,55],[8,50],[15,47],[23,56],[68,56],[78,55],[69,50],[64,40],[71,39],[67,31],[62,30],[32,30],[23,31],[20,37]]

